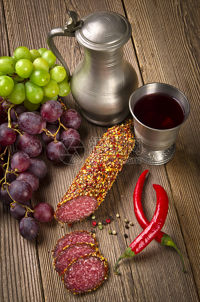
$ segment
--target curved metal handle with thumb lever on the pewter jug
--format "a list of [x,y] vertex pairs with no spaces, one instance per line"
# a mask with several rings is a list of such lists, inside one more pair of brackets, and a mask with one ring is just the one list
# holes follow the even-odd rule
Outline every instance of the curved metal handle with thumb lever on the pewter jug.
[[69,18],[68,22],[65,24],[65,26],[55,27],[52,30],[50,30],[47,35],[47,44],[48,44],[50,50],[55,55],[55,57],[60,61],[60,63],[65,68],[67,76],[68,76],[68,81],[70,81],[69,67],[67,66],[64,58],[61,56],[57,47],[55,46],[53,38],[56,36],[75,37],[74,32],[83,26],[83,20],[77,21],[78,17],[75,12],[69,11],[69,16],[70,16],[70,18]]

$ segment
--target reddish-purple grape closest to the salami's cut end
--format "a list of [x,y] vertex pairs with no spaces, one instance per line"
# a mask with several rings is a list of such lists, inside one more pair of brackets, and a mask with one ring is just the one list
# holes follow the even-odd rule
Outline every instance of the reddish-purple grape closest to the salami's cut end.
[[48,203],[40,203],[34,207],[33,217],[40,222],[49,222],[54,218],[55,210]]

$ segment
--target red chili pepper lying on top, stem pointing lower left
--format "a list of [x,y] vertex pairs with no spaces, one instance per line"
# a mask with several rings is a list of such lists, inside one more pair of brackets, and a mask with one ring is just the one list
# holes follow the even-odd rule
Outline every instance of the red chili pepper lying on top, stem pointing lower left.
[[116,268],[121,259],[132,257],[140,253],[147,245],[149,245],[164,226],[168,212],[168,196],[162,186],[153,184],[153,188],[155,189],[157,196],[156,210],[153,218],[148,226],[136,237],[136,239],[127,247],[124,254],[118,259],[114,267],[115,274],[119,274],[119,271]]

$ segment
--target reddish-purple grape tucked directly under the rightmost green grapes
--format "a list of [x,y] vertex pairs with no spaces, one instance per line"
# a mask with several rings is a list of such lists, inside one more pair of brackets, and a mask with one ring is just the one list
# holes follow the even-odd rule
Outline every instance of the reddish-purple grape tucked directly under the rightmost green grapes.
[[41,109],[40,114],[48,122],[54,122],[62,114],[63,108],[60,102],[56,100],[46,101]]

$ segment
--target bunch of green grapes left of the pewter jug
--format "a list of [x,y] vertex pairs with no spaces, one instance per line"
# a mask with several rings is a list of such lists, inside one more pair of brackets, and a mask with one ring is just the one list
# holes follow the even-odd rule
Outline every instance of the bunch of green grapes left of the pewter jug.
[[70,93],[68,76],[56,57],[46,48],[15,49],[13,57],[0,57],[0,96],[12,104],[35,111],[47,100]]

